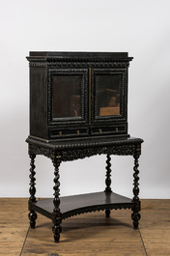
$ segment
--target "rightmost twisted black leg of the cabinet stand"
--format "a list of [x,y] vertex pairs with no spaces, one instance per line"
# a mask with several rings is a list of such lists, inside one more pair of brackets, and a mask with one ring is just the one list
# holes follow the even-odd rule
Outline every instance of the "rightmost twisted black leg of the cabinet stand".
[[133,213],[131,214],[131,218],[133,220],[133,228],[134,229],[138,229],[138,222],[139,222],[139,219],[140,219],[140,201],[139,201],[139,197],[138,197],[138,194],[139,194],[139,177],[138,177],[138,174],[139,174],[139,170],[138,170],[138,158],[139,156],[136,155],[136,156],[133,156],[134,157],[134,173],[133,173],[133,178],[134,178],[134,183],[133,183],[133,199],[132,199],[132,202],[134,202],[134,207],[132,209]]

